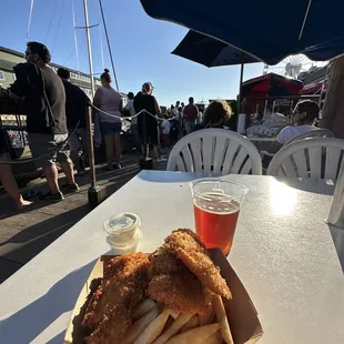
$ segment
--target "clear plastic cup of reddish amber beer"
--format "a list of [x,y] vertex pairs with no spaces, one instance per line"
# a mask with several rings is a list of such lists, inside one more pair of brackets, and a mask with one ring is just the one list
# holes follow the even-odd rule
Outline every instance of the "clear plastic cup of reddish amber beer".
[[220,178],[199,179],[190,188],[198,235],[208,249],[220,247],[229,254],[247,188]]

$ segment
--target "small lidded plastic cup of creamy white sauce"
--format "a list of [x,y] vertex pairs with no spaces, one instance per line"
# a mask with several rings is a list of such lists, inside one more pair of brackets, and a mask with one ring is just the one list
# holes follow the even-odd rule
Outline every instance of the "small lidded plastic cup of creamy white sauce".
[[141,220],[133,213],[121,213],[104,221],[107,242],[112,254],[136,252],[142,240]]

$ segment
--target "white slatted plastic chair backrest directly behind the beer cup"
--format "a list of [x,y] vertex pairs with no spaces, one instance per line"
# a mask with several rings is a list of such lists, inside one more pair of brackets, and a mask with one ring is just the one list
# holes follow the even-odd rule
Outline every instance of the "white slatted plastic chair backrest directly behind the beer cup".
[[262,174],[262,160],[253,143],[243,135],[225,129],[203,129],[176,142],[166,170]]

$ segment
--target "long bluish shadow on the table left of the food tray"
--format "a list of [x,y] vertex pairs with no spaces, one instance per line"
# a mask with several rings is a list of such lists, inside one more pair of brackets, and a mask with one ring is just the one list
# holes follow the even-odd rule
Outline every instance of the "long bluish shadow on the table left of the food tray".
[[[72,271],[43,296],[0,322],[1,343],[30,343],[64,312],[72,311],[97,260]],[[24,281],[23,281],[24,283]],[[63,332],[64,334],[64,332]],[[49,343],[62,343],[60,333]]]

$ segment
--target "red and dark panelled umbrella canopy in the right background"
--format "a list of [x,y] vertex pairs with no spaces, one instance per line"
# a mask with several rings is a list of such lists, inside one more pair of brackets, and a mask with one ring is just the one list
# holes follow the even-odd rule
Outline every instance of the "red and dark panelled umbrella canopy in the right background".
[[303,88],[303,82],[275,73],[245,81],[242,85],[243,97],[283,97],[296,95]]

